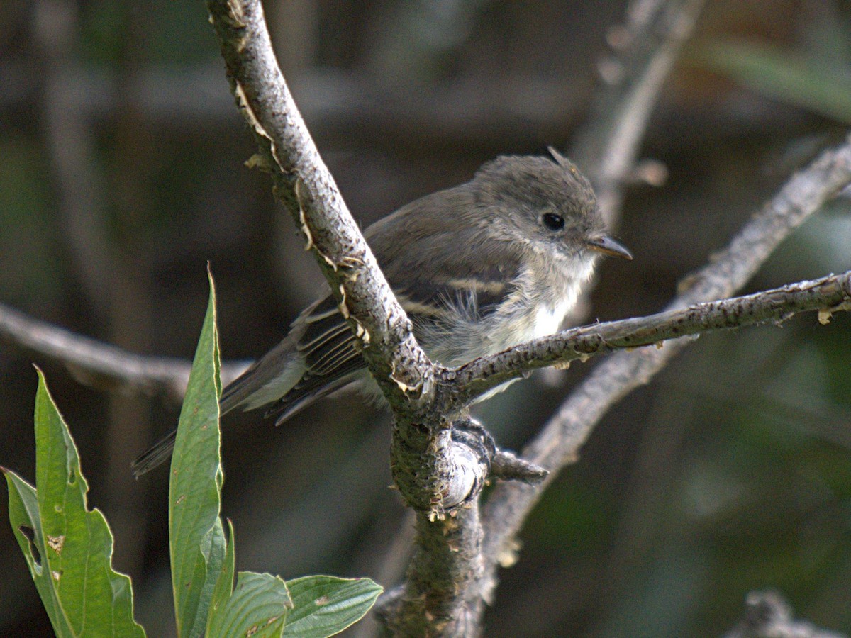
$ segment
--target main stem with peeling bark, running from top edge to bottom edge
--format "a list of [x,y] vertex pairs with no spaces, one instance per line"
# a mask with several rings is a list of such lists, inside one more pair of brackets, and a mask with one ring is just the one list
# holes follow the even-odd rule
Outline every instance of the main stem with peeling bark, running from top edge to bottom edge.
[[482,530],[475,508],[444,517],[444,488],[463,446],[452,441],[443,414],[431,410],[438,367],[416,344],[319,157],[277,68],[260,2],[208,0],[208,10],[237,104],[260,147],[250,163],[271,173],[393,409],[391,468],[399,492],[417,510],[418,550],[391,624],[401,635],[466,633],[463,610],[477,595]]

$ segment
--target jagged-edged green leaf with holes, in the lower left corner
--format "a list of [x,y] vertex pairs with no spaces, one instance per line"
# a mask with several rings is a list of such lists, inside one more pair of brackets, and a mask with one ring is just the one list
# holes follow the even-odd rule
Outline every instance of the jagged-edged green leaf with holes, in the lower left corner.
[[112,535],[89,486],[77,447],[38,371],[36,486],[5,471],[9,522],[56,635],[144,636],[133,619],[130,579],[113,571]]

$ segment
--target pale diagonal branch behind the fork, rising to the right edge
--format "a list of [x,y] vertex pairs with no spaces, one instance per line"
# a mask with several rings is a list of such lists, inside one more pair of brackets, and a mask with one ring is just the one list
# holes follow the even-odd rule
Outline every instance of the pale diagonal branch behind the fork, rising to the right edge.
[[[849,183],[851,137],[794,175],[734,237],[728,248],[718,253],[709,265],[686,277],[668,310],[734,293],[785,236]],[[575,462],[580,447],[609,407],[639,385],[648,383],[688,343],[688,339],[680,339],[661,350],[644,348],[611,356],[574,390],[540,435],[529,443],[524,458],[551,470],[551,474],[540,487],[503,483],[491,493],[483,509],[485,600],[494,590],[500,561],[511,561],[514,537],[549,481],[558,470]]]

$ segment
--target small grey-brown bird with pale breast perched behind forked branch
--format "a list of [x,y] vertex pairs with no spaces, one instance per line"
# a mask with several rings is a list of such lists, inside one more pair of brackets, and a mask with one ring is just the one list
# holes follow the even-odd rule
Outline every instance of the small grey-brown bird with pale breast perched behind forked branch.
[[[456,367],[557,331],[600,254],[632,259],[608,236],[588,180],[554,149],[497,157],[466,184],[421,197],[364,235],[426,354]],[[355,335],[325,290],[286,338],[222,392],[221,413],[266,407],[283,421],[369,378]],[[372,391],[380,395],[377,385]],[[133,464],[168,459],[174,432]]]

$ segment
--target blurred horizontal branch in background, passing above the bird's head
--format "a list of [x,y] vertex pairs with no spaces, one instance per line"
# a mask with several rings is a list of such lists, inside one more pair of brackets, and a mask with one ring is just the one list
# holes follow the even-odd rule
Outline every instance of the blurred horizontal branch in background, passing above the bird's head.
[[[155,128],[199,119],[229,126],[239,117],[233,100],[222,90],[221,69],[216,64],[169,65],[168,69],[143,65],[121,89],[117,77],[102,67],[95,70],[71,64],[61,79],[56,87],[60,107],[89,121],[108,119],[122,90],[134,97],[140,117]],[[0,86],[14,87],[14,91],[0,92],[0,109],[26,110],[37,103],[43,80],[43,67],[31,57],[4,57],[0,60]],[[322,130],[326,138],[333,136],[337,145],[368,144],[389,155],[398,152],[400,144],[416,147],[423,154],[445,152],[449,145],[475,145],[477,155],[540,147],[537,140],[562,139],[588,112],[582,92],[566,94],[562,80],[540,74],[445,78],[429,91],[397,91],[391,99],[386,86],[376,84],[374,76],[363,69],[314,67],[300,72],[293,84],[311,128]],[[187,86],[192,90],[186,91]],[[700,144],[730,127],[723,111],[697,114],[688,105],[663,104],[655,113],[665,122],[665,127],[655,132],[657,148],[676,146],[686,135]],[[700,117],[699,128],[695,128],[695,117]],[[591,118],[597,118],[594,111]],[[745,128],[758,126],[766,134],[780,134],[805,119],[796,111],[754,107],[736,113],[736,121]],[[567,155],[589,173],[590,163],[581,159],[580,144],[572,145]],[[625,183],[636,179],[635,173],[628,171]]]

